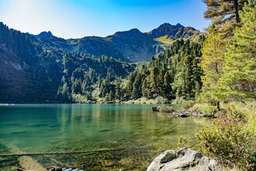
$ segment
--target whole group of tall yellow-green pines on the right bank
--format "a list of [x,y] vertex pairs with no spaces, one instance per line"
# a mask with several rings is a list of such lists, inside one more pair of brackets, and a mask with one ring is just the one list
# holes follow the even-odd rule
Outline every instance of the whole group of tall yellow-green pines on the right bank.
[[249,0],[250,8],[244,3],[247,0],[204,2],[207,5],[205,18],[212,19],[213,25],[209,26],[209,35],[202,49],[201,66],[205,75],[202,77],[201,98],[216,103],[219,110],[220,100],[245,97],[247,90],[251,95],[255,92],[255,60],[247,55],[255,53],[251,51],[255,40],[254,1]]

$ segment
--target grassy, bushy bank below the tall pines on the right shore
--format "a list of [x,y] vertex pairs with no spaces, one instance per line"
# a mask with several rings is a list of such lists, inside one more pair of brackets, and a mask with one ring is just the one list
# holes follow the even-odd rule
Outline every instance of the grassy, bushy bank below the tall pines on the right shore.
[[198,130],[199,143],[195,150],[221,162],[224,170],[256,170],[254,101],[234,101],[220,106],[221,111],[217,111],[209,103],[183,103],[183,109],[217,116],[212,124]]

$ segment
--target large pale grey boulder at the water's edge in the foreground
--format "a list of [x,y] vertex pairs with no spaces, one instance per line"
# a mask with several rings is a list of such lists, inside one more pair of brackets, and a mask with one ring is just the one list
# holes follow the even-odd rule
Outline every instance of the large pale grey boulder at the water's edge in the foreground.
[[209,159],[200,152],[196,152],[190,148],[181,148],[179,151],[167,150],[157,156],[147,171],[156,170],[219,171],[222,170],[222,166],[215,159]]

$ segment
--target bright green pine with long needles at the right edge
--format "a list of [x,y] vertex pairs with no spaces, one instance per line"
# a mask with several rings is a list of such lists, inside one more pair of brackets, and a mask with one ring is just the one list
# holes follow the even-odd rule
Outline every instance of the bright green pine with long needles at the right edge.
[[[240,12],[243,26],[227,46],[224,75],[219,80],[224,96],[255,99],[256,104],[256,5],[249,0]],[[256,111],[255,111],[256,113]]]

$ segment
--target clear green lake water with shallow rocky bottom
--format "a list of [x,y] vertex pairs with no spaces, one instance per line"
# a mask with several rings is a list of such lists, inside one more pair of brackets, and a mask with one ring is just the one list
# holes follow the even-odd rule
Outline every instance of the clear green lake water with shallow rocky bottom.
[[0,170],[16,170],[19,156],[1,155],[20,152],[71,152],[30,155],[44,167],[145,170],[160,152],[176,148],[179,136],[195,138],[196,127],[205,122],[153,112],[151,107],[115,104],[0,106]]

